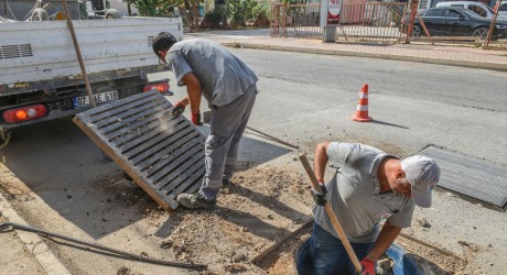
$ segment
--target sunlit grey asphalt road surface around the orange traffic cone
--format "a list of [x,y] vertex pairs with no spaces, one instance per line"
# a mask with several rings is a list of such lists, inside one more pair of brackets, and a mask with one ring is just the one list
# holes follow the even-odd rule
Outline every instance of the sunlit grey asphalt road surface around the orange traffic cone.
[[[305,143],[364,139],[412,154],[428,144],[507,165],[507,74],[409,62],[236,51],[258,72],[251,125]],[[374,123],[352,122],[369,86]]]

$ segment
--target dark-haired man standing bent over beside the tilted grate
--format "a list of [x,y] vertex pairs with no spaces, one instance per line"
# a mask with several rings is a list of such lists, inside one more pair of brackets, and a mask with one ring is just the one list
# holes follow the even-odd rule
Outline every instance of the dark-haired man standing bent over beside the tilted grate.
[[172,113],[181,114],[188,106],[192,122],[201,125],[201,97],[212,110],[201,189],[197,194],[180,194],[176,200],[190,209],[213,208],[223,184],[229,184],[236,168],[238,144],[256,101],[258,78],[242,61],[212,41],[179,42],[162,32],[152,46],[174,73],[177,85],[186,86],[187,97],[174,105]]

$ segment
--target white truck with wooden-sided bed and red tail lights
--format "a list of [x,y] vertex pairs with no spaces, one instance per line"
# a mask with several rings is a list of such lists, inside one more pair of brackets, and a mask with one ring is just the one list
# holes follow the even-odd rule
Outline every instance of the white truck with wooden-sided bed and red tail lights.
[[[151,90],[164,69],[152,50],[162,31],[183,38],[180,18],[73,20],[97,105]],[[0,133],[89,109],[89,99],[67,22],[0,21]]]

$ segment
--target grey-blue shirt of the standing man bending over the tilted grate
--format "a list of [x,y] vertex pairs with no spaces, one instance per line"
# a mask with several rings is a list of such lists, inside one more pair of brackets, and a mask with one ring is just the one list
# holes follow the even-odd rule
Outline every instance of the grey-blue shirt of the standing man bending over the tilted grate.
[[165,58],[179,86],[184,86],[182,79],[186,74],[195,74],[209,107],[233,102],[258,80],[256,74],[238,57],[207,40],[177,42]]

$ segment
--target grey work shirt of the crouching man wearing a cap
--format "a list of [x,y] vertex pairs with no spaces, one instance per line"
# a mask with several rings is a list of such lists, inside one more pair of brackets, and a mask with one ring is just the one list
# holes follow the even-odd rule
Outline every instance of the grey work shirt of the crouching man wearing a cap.
[[[327,157],[330,166],[337,168],[326,184],[328,204],[350,242],[375,242],[378,223],[386,219],[400,228],[410,227],[413,200],[402,194],[380,194],[378,166],[385,157],[395,156],[359,143],[333,142]],[[324,207],[316,206],[313,215],[321,228],[338,238]]]

